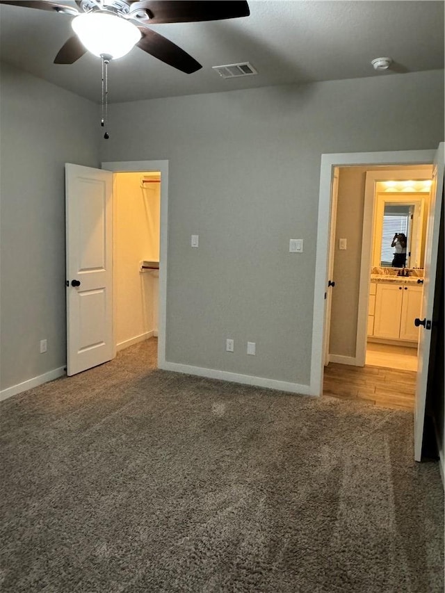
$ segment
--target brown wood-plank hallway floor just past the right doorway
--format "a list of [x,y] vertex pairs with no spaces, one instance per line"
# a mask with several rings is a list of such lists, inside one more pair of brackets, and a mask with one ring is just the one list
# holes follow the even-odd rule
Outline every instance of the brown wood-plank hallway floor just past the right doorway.
[[325,366],[323,394],[366,400],[381,407],[414,409],[416,373],[381,366]]

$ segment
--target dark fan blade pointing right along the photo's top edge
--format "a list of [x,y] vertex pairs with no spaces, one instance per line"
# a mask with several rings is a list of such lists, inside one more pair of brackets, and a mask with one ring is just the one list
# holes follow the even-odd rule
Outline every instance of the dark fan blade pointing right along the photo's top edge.
[[147,10],[150,24],[217,21],[250,15],[245,0],[143,0],[131,2],[130,10]]

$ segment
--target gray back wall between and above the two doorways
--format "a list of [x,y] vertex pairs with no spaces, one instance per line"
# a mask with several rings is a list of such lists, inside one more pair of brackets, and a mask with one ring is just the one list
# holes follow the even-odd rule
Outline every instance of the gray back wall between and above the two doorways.
[[170,161],[167,360],[308,384],[321,154],[435,148],[443,103],[432,71],[111,106],[102,161]]

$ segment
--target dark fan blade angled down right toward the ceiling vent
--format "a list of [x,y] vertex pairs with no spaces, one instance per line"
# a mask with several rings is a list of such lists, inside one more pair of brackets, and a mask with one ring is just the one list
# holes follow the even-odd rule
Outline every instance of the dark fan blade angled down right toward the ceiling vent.
[[142,33],[142,39],[136,45],[146,51],[147,54],[158,58],[158,60],[186,74],[192,74],[192,72],[196,72],[202,68],[202,65],[195,58],[189,56],[184,49],[181,49],[162,35],[159,35],[159,33],[155,33],[152,29],[146,29],[141,26],[139,29]]

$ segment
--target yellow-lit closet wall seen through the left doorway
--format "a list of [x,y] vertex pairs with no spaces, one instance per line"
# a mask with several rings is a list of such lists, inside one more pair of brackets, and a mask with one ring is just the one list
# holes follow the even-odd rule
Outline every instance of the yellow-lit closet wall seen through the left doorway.
[[[143,179],[149,182],[143,183]],[[159,273],[140,261],[159,261],[159,173],[114,177],[114,329],[118,350],[157,335]]]

